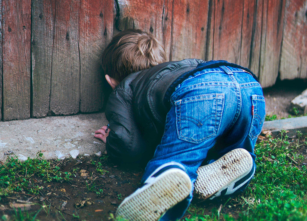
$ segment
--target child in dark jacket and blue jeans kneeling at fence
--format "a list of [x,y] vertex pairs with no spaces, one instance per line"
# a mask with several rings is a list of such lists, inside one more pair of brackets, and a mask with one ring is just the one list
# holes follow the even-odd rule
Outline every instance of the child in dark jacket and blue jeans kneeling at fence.
[[151,157],[142,187],[117,209],[127,220],[176,220],[193,191],[203,199],[238,193],[255,173],[253,148],[265,118],[255,75],[226,61],[165,57],[157,39],[132,29],[103,52],[113,92],[109,125],[95,137],[118,162]]

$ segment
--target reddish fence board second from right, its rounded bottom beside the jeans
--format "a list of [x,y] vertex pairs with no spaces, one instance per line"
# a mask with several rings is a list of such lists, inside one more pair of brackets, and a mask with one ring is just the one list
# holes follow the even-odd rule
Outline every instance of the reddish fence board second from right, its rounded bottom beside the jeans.
[[258,4],[262,8],[258,77],[265,88],[274,85],[278,77],[285,0],[262,0]]

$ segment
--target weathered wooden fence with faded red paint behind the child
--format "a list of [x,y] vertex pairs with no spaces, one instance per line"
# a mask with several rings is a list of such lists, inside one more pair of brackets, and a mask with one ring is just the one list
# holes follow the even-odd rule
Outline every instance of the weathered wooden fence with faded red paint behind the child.
[[[169,60],[224,59],[263,87],[307,78],[307,0],[0,0],[2,120],[99,111],[100,56],[141,28]],[[114,28],[115,27],[115,28]]]

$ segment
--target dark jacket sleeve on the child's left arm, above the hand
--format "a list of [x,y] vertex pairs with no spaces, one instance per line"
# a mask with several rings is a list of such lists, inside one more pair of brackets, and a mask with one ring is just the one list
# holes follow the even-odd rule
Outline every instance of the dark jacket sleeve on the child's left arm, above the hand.
[[146,144],[134,119],[132,94],[124,88],[116,88],[108,99],[105,114],[111,129],[107,153],[118,162],[140,160],[146,152]]

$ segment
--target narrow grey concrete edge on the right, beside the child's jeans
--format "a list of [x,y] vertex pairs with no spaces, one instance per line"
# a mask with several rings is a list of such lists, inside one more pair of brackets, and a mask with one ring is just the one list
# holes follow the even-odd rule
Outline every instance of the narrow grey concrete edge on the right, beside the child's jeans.
[[282,120],[265,121],[262,130],[272,131],[272,135],[278,135],[279,131],[285,129],[288,136],[296,135],[296,131],[307,133],[307,116],[297,118],[287,118]]

